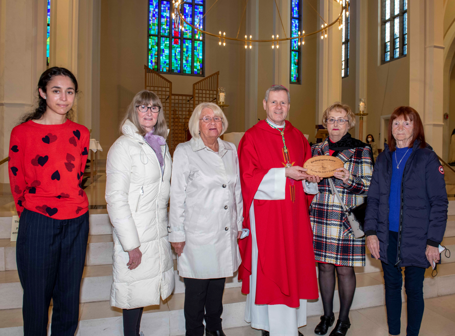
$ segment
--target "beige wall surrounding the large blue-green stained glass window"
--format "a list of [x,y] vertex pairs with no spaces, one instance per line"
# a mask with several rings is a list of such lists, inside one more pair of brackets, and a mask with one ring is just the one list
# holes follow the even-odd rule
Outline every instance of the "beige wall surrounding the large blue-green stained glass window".
[[[215,0],[208,0],[208,10]],[[206,29],[221,30],[236,36],[243,13],[243,1],[219,2],[206,16]],[[147,64],[148,1],[102,0],[101,4],[101,83],[100,142],[105,157],[118,138],[119,123],[135,93],[144,89],[144,65]],[[245,35],[243,19],[239,36]],[[206,36],[205,74],[220,71],[219,86],[226,89],[227,132],[244,131],[245,49],[243,43]],[[164,75],[172,81],[174,93],[192,94],[193,83],[202,77]]]

